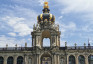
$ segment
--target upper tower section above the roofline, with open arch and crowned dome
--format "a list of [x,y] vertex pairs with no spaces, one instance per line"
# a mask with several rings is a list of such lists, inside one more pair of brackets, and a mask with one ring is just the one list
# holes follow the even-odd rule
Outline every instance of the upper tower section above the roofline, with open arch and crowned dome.
[[48,2],[44,3],[43,14],[37,17],[37,25],[33,26],[32,46],[43,48],[43,39],[50,39],[50,47],[60,46],[59,25],[55,24],[55,16],[50,14]]

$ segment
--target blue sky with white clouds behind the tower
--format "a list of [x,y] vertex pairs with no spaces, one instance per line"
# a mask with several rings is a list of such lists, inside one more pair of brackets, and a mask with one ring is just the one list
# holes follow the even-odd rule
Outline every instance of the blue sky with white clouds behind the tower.
[[[0,47],[31,46],[31,31],[42,13],[44,0],[0,0]],[[61,46],[93,45],[93,0],[48,0],[60,25]],[[49,45],[44,41],[45,45]]]

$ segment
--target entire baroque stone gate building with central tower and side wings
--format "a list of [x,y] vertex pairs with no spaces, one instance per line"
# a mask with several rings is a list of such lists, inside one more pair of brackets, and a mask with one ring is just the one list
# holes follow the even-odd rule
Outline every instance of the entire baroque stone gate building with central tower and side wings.
[[[93,64],[93,47],[60,47],[59,25],[50,14],[48,2],[44,3],[43,13],[33,26],[32,47],[0,48],[0,64]],[[43,39],[50,39],[50,47],[43,47]]]

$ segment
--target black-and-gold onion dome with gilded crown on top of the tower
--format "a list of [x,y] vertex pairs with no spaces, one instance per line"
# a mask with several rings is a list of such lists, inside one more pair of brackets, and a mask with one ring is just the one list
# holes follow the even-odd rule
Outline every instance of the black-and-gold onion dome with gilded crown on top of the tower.
[[44,2],[44,9],[42,10],[43,14],[40,14],[37,17],[37,21],[38,23],[44,23],[45,21],[50,22],[51,24],[53,24],[55,22],[55,16],[50,14],[50,9],[48,6],[48,2]]

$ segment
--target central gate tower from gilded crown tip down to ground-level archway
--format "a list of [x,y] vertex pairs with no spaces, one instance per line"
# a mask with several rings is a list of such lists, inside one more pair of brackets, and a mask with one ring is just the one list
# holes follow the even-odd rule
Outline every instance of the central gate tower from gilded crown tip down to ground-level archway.
[[[34,64],[59,64],[59,55],[55,54],[56,50],[60,47],[60,31],[59,25],[55,24],[55,16],[50,14],[48,2],[44,3],[43,14],[37,17],[37,25],[33,26],[32,46],[37,53],[34,53]],[[43,39],[49,38],[50,46],[43,46]],[[47,43],[47,42],[46,42]],[[39,51],[38,51],[39,50]],[[42,51],[40,51],[42,50]],[[52,50],[51,52],[49,50]],[[52,56],[46,51],[53,54]],[[44,53],[43,55],[39,53]],[[41,57],[40,57],[41,56]],[[54,63],[52,63],[54,62]]]

